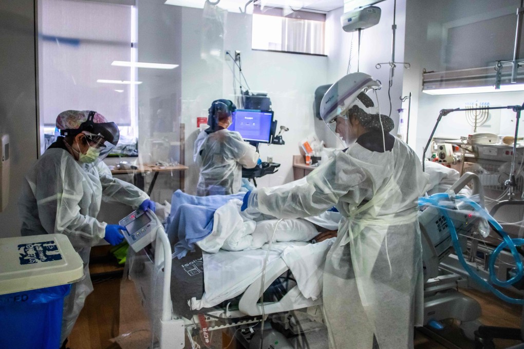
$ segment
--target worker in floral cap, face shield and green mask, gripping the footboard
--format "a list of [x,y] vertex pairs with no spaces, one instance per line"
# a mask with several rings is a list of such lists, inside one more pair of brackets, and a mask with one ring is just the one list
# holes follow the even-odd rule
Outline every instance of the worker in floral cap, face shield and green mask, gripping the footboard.
[[[84,264],[84,278],[64,300],[62,342],[70,334],[85,298],[93,291],[89,276],[91,246],[105,239],[112,245],[124,237],[115,224],[96,219],[101,200],[155,210],[142,190],[113,178],[102,162],[119,138],[114,122],[88,110],[67,110],[57,117],[62,136],[49,146],[25,176],[20,199],[21,235],[67,235]],[[65,347],[65,343],[63,345]]]

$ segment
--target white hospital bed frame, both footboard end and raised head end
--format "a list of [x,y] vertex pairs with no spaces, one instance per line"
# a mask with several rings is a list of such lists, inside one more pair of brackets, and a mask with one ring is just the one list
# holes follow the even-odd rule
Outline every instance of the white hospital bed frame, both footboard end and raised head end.
[[[473,183],[473,195],[480,195],[482,201],[481,186],[478,185],[478,177],[474,174],[465,174],[451,189],[458,192],[468,183]],[[457,319],[461,321],[465,334],[472,339],[473,332],[480,324],[477,319],[481,315],[481,307],[477,301],[457,290],[457,286],[468,286],[467,278],[441,267],[443,261],[452,256],[453,251],[449,238],[432,223],[435,215],[438,218],[439,213],[425,210],[419,216],[425,276],[424,324],[431,325],[444,319]],[[461,230],[464,236],[467,235],[474,221],[468,223],[471,224],[469,226],[457,224],[457,229]],[[466,245],[467,241],[463,243]],[[186,338],[193,347],[198,347],[193,343],[192,337],[199,335],[201,344],[205,345],[214,331],[227,328],[235,328],[234,340],[249,347],[249,339],[255,338],[254,340],[258,342],[258,334],[254,333],[253,328],[263,320],[267,320],[266,327],[268,322],[272,322],[277,324],[275,327],[279,330],[287,334],[291,333],[293,336],[300,336],[304,332],[325,331],[321,315],[322,300],[308,299],[301,294],[282,258],[269,263],[265,277],[258,276],[242,295],[211,309],[190,312],[179,311],[173,306],[172,297],[177,295],[171,294],[171,283],[176,283],[177,280],[171,278],[171,244],[165,233],[157,234],[154,243],[146,249],[136,254],[131,253],[128,256],[128,263],[131,265],[129,278],[135,282],[142,303],[149,305],[146,308],[151,318],[152,331],[161,349],[183,348]],[[278,284],[279,279],[284,280],[285,294],[278,299],[265,300],[261,305],[260,285],[263,278],[265,294],[271,286]],[[274,332],[271,334],[280,335]],[[281,340],[286,338],[283,337]],[[256,347],[258,348],[258,344]]]

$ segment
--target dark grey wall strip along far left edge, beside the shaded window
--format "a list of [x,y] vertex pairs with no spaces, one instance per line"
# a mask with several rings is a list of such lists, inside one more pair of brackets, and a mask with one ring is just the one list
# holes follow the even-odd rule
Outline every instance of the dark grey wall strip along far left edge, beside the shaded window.
[[23,174],[37,160],[35,2],[0,1],[0,132],[11,147],[10,193],[0,238],[20,235],[17,200]]

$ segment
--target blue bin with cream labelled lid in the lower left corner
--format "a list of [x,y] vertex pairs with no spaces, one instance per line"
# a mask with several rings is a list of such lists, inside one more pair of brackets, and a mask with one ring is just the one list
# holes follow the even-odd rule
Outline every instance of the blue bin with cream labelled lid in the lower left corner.
[[62,234],[0,239],[0,348],[58,349],[62,308],[82,260]]

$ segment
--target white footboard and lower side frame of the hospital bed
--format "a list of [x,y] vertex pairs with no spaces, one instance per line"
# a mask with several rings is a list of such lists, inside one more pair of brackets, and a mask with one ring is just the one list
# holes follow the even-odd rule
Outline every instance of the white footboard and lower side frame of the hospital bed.
[[[228,300],[223,307],[200,309],[193,311],[192,316],[188,316],[187,313],[181,316],[173,309],[170,293],[171,283],[177,280],[171,279],[171,273],[166,272],[171,269],[172,262],[167,235],[158,234],[154,245],[154,248],[145,249],[137,254],[130,252],[129,263],[135,265],[129,267],[129,277],[134,280],[142,303],[150,305],[146,308],[149,308],[148,316],[153,318],[151,323],[161,349],[183,348],[186,333],[187,337],[191,338],[196,331],[200,331],[200,337],[205,342],[213,331],[239,326],[249,328],[273,314],[315,308],[322,303],[321,299],[305,298],[296,283],[290,282],[286,294],[277,301],[265,301],[263,309],[258,303],[263,278],[259,276],[241,296]],[[288,272],[289,268],[281,258],[269,263],[264,289],[267,290],[279,277]],[[320,313],[320,310],[316,312]]]

